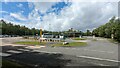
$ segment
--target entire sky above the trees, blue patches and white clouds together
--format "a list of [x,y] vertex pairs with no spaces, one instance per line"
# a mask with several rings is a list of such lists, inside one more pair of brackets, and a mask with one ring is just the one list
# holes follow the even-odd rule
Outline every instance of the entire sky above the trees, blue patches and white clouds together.
[[0,2],[0,19],[29,28],[86,31],[118,16],[117,2]]

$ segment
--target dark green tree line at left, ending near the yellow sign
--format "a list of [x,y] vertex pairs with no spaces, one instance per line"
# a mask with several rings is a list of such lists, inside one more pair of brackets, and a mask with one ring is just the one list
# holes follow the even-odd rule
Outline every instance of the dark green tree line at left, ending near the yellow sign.
[[39,30],[32,28],[29,29],[25,26],[13,25],[12,23],[6,23],[4,20],[0,21],[0,29],[2,29],[2,35],[35,35],[39,34]]

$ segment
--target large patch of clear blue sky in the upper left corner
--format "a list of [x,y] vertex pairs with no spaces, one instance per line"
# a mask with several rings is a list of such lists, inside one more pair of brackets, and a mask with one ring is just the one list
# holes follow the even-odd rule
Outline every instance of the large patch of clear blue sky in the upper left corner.
[[[21,7],[19,6],[20,4],[22,5]],[[21,12],[27,17],[32,10],[29,9],[28,2],[2,2],[2,11],[7,11],[9,13]]]

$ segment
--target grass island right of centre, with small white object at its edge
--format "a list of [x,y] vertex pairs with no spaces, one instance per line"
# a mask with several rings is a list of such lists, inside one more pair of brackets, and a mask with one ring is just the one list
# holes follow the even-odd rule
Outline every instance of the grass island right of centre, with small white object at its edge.
[[74,46],[86,46],[86,42],[71,42],[69,44],[63,45],[63,43],[52,44],[51,46],[62,46],[62,47],[74,47]]

